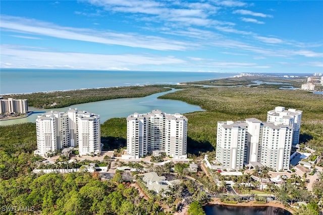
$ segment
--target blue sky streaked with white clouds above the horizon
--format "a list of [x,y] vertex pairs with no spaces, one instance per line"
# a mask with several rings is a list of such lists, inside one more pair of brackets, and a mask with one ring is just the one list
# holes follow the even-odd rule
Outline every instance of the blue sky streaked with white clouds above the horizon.
[[1,68],[323,73],[323,1],[1,1]]

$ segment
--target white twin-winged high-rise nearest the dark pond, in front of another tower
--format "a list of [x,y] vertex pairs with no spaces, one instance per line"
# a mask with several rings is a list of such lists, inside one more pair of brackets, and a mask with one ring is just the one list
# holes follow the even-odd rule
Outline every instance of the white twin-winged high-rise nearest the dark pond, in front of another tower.
[[273,168],[289,169],[293,127],[279,122],[218,122],[217,161],[227,170],[240,170],[250,162]]

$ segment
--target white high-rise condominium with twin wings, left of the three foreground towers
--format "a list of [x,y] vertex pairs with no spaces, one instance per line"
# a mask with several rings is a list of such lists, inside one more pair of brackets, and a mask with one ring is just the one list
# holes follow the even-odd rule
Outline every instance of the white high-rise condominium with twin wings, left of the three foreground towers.
[[99,115],[77,109],[50,111],[37,117],[36,129],[37,150],[34,154],[46,156],[67,147],[78,147],[79,155],[101,152]]

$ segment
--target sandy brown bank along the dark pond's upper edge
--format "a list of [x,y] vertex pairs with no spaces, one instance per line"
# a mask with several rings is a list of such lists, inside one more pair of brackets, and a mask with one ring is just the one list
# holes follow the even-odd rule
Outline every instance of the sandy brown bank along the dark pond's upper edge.
[[206,203],[203,206],[211,206],[211,205],[224,205],[224,206],[242,206],[242,207],[279,207],[284,210],[289,211],[290,213],[294,214],[296,211],[291,208],[291,207],[286,207],[284,204],[280,203],[277,200],[270,201],[267,203],[255,203],[254,201],[249,201],[249,202],[237,202],[236,204],[230,204],[230,203],[224,203],[220,200],[220,198],[212,198],[212,201]]

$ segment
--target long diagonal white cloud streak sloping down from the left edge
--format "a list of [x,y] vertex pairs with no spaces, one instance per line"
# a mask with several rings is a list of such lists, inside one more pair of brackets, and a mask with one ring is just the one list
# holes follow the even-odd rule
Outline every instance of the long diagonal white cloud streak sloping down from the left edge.
[[23,33],[62,39],[80,40],[109,45],[123,45],[155,50],[185,50],[188,47],[184,42],[168,40],[156,36],[144,36],[130,33],[121,34],[95,31],[91,29],[69,28],[41,22],[38,20],[11,16],[2,16],[1,19],[1,28],[3,31],[19,31]]

